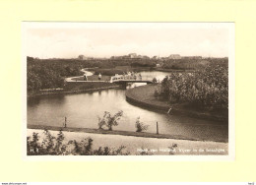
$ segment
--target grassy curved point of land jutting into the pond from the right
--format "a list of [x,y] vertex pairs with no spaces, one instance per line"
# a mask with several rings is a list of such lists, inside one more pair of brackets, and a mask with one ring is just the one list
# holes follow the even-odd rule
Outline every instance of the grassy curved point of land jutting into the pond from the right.
[[126,92],[126,99],[127,101],[136,105],[151,108],[157,111],[161,110],[167,112],[169,108],[171,108],[170,113],[183,114],[191,117],[223,122],[228,121],[228,111],[197,109],[192,104],[188,103],[169,104],[167,101],[160,100],[159,98],[155,97],[154,93],[156,90],[160,90],[160,85],[147,85],[134,88]]

